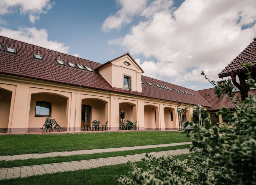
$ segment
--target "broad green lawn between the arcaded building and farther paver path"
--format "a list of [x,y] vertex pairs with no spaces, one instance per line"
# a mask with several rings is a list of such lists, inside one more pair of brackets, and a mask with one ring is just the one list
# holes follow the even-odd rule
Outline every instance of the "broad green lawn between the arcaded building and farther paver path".
[[90,150],[189,142],[177,131],[99,132],[87,134],[1,135],[0,155]]

